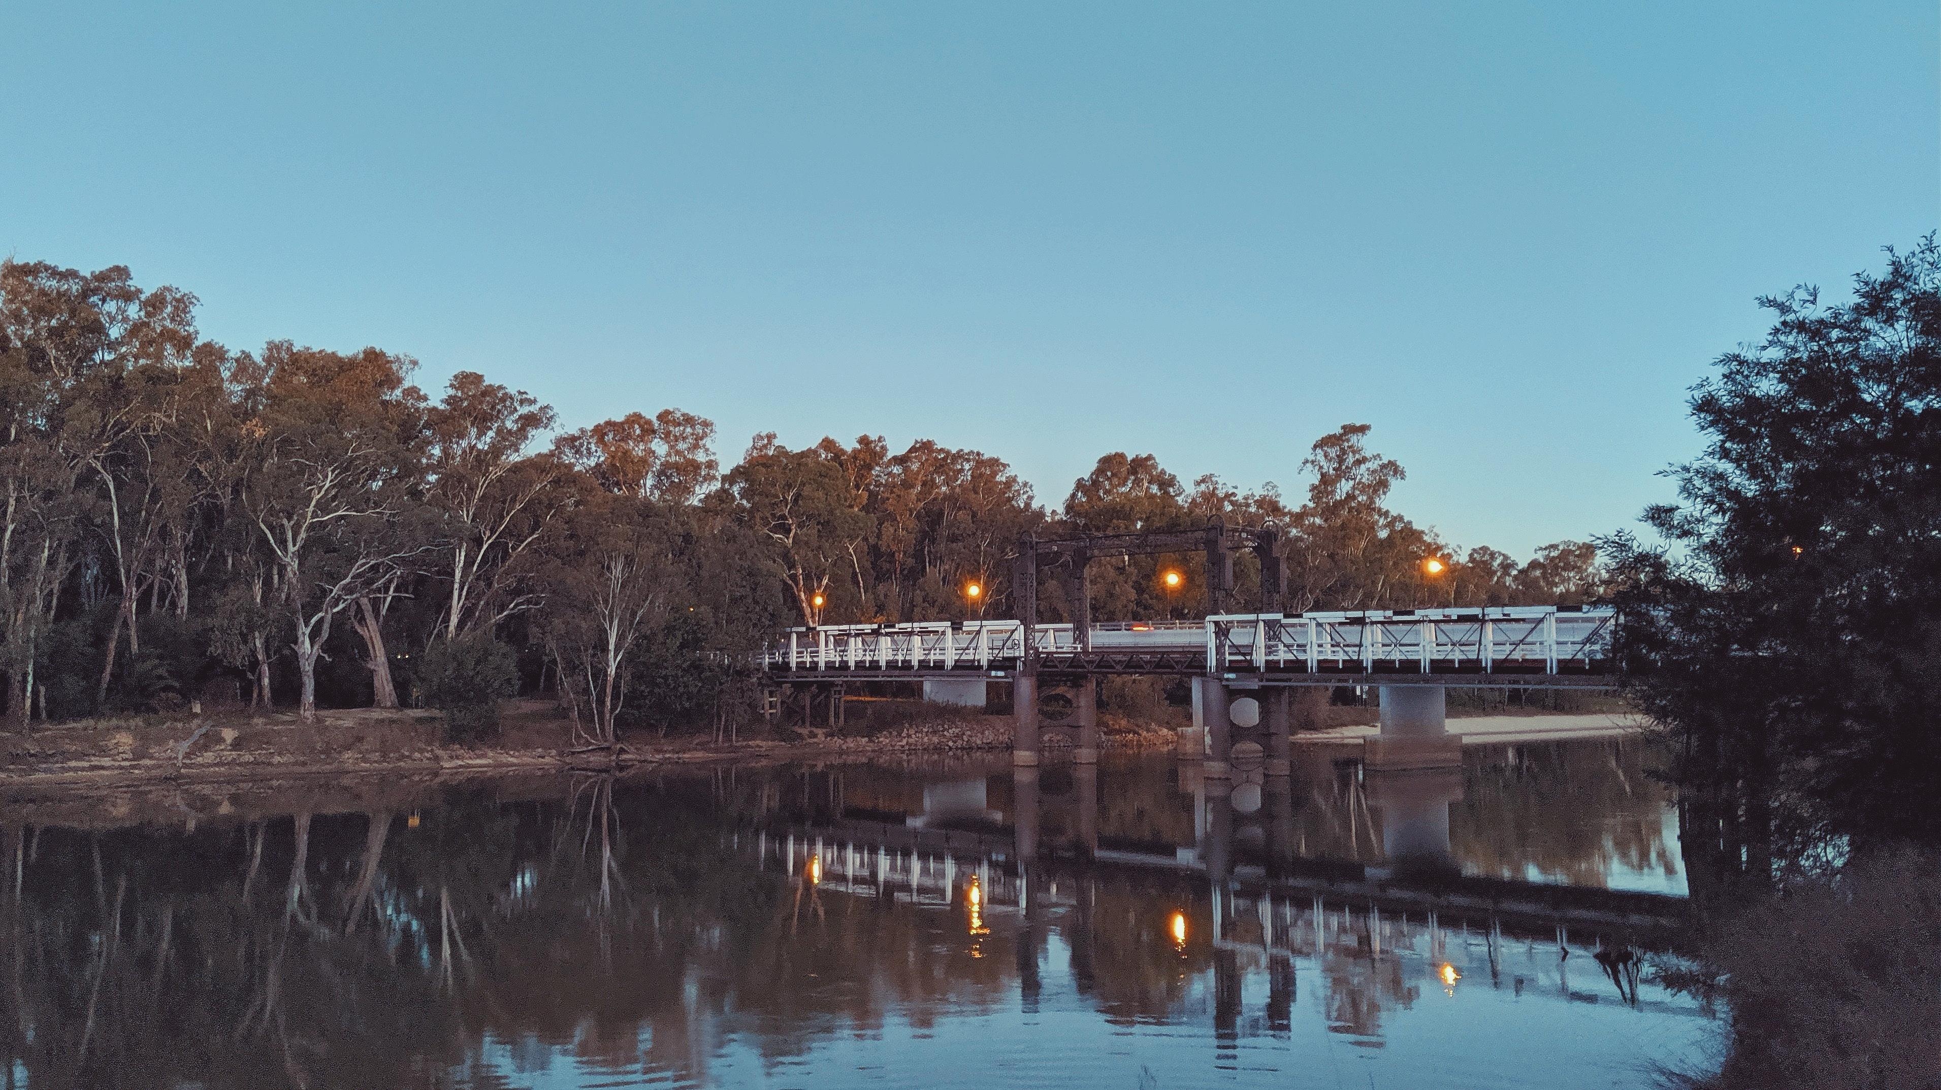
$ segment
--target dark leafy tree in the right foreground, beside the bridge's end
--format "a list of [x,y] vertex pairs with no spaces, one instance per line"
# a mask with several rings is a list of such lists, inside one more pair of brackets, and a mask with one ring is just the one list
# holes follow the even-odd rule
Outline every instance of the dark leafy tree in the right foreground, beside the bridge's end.
[[1675,471],[1681,502],[1648,512],[1675,551],[1605,543],[1632,696],[1691,784],[1848,836],[1941,836],[1941,246],[1889,252],[1846,305],[1762,305],[1766,339],[1694,388],[1710,444]]

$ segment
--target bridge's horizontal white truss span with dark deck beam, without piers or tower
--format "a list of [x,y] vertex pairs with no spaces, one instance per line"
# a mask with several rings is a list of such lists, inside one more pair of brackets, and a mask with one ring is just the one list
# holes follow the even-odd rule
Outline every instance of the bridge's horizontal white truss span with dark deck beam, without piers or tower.
[[[1256,685],[1607,687],[1609,607],[1512,605],[1227,613],[1203,621],[1023,625],[918,621],[790,628],[763,650],[774,681],[1205,675]],[[1027,654],[1029,640],[1029,654]]]

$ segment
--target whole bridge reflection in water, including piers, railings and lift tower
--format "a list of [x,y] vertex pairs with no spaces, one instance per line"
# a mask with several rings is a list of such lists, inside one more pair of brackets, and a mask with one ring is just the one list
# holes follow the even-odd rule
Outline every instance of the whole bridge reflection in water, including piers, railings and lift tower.
[[[1184,766],[1192,778],[1194,766]],[[1071,974],[1089,987],[1104,931],[1143,931],[1182,954],[1192,945],[1211,964],[1213,1024],[1234,1036],[1244,1016],[1242,985],[1264,974],[1266,1024],[1285,1028],[1297,964],[1326,976],[1332,1024],[1378,1032],[1380,1012],[1427,976],[1431,987],[1460,979],[1489,987],[1549,989],[1574,1003],[1619,999],[1660,1012],[1704,1014],[1683,1003],[1625,995],[1623,970],[1634,948],[1669,948],[1685,921],[1679,896],[1464,877],[1450,846],[1448,807],[1462,797],[1460,774],[1372,776],[1349,801],[1380,815],[1382,865],[1302,859],[1295,853],[1295,805],[1287,782],[1267,782],[1258,805],[1236,799],[1223,780],[1194,787],[1196,844],[1112,844],[1099,836],[1097,768],[1069,770],[1071,789],[1046,797],[1040,776],[1066,770],[1017,768],[1009,813],[986,799],[986,780],[924,789],[920,813],[839,807],[825,820],[774,822],[743,838],[763,869],[790,875],[798,890],[899,902],[963,915],[970,941],[994,923],[1015,935],[1021,997],[1042,987],[1040,958],[1056,923]],[[1246,784],[1242,784],[1246,787]],[[1052,809],[1069,813],[1050,815]],[[1058,818],[1058,820],[1046,820]],[[1040,836],[1044,824],[1062,836]],[[1143,902],[1151,919],[1101,919]],[[1405,968],[1409,966],[1409,968]],[[1576,983],[1572,983],[1576,972]],[[1632,970],[1634,972],[1634,970]],[[1254,976],[1258,979],[1258,976]],[[1258,983],[1254,987],[1260,987]],[[1310,987],[1314,987],[1310,983]]]

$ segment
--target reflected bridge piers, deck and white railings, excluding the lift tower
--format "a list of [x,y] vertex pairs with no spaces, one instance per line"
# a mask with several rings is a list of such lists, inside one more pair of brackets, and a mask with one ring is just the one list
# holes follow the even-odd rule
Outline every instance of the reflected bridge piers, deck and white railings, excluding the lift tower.
[[[1190,766],[1186,768],[1190,776]],[[1450,929],[1485,937],[1661,945],[1685,921],[1669,894],[1462,875],[1450,848],[1460,774],[1370,776],[1349,799],[1380,815],[1382,865],[1297,855],[1293,791],[1285,778],[1194,784],[1196,844],[1101,844],[1097,768],[1075,766],[1069,836],[1040,842],[1040,772],[1013,772],[1011,813],[984,799],[984,782],[926,789],[924,813],[844,809],[835,820],[757,830],[755,855],[827,890],[916,906],[1033,914],[1075,908],[1089,884],[1147,882],[1178,892],[1186,927],[1219,945],[1312,954],[1351,937],[1370,952],[1436,950]],[[1002,822],[1009,824],[1002,824]],[[1368,818],[1370,834],[1376,824]]]

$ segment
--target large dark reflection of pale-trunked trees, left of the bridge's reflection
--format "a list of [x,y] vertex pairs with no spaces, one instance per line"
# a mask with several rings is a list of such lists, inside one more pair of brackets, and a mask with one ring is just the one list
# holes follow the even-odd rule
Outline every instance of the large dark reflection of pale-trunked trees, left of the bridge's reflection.
[[[761,805],[759,789],[747,799]],[[392,1086],[514,1053],[703,1073],[996,1003],[1007,937],[755,871],[703,784],[184,830],[27,830],[0,1047],[33,1086]],[[297,836],[301,830],[301,836]],[[732,1003],[730,1003],[732,997]],[[429,1073],[429,1074],[427,1074]]]

